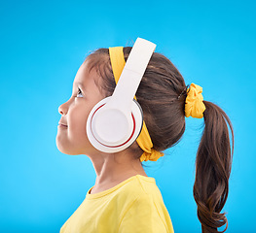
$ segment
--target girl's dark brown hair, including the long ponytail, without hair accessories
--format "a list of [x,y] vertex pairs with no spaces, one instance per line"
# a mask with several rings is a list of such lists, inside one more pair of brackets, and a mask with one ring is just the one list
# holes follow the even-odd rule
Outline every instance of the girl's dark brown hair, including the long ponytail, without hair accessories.
[[[127,60],[131,47],[124,48]],[[108,49],[93,51],[86,59],[89,69],[95,68],[102,78],[98,86],[105,96],[112,95],[116,83],[111,68]],[[175,146],[185,131],[185,99],[187,86],[176,67],[163,54],[154,52],[147,66],[136,97],[155,150]],[[234,131],[231,120],[217,105],[203,101],[204,129],[196,158],[194,198],[198,205],[198,217],[202,233],[219,232],[218,227],[227,223],[225,214],[220,214],[228,192],[234,152]],[[228,124],[227,124],[228,122]],[[232,133],[232,151],[228,125]],[[142,154],[136,143],[132,150],[138,159]],[[222,231],[222,232],[224,232]]]

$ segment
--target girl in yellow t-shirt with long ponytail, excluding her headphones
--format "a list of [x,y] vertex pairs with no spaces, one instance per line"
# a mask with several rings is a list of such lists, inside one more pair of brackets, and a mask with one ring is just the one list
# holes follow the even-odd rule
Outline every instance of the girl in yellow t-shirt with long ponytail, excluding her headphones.
[[126,47],[91,52],[77,72],[71,98],[59,106],[58,150],[88,155],[96,173],[95,184],[60,233],[173,233],[161,191],[155,179],[145,173],[142,161],[157,161],[164,155],[163,150],[180,141],[185,116],[203,117],[205,125],[194,184],[201,230],[219,232],[217,228],[227,223],[226,231],[228,220],[220,212],[229,192],[234,151],[232,123],[218,106],[203,101],[200,85],[186,85],[163,54],[153,53],[136,91],[144,119],[136,141],[128,149],[113,153],[92,147],[86,130],[88,116],[96,103],[112,95],[130,50]]

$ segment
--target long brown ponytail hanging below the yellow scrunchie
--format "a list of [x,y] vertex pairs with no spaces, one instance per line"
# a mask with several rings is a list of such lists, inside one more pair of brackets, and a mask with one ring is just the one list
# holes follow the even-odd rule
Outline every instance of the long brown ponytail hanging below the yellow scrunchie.
[[[226,213],[220,214],[229,193],[234,153],[234,131],[230,118],[217,105],[203,101],[204,130],[196,158],[196,179],[193,188],[198,205],[202,233],[225,232]],[[227,122],[232,133],[232,152]],[[217,228],[226,225],[224,231]]]

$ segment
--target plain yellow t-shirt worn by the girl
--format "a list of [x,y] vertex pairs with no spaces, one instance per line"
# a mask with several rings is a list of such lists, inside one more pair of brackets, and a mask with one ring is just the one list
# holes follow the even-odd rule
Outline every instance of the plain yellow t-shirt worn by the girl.
[[154,178],[135,175],[95,194],[92,188],[60,233],[174,233]]

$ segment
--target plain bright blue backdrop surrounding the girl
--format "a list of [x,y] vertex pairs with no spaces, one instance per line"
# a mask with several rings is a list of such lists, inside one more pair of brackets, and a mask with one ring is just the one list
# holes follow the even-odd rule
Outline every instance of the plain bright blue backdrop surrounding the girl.
[[[203,88],[235,130],[227,232],[256,232],[253,1],[1,1],[0,232],[58,232],[94,184],[91,160],[56,149],[58,106],[90,50],[157,44],[185,82]],[[186,118],[182,141],[158,162],[156,179],[175,232],[201,232],[193,197],[203,119]],[[224,228],[221,228],[224,229]]]

